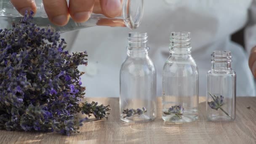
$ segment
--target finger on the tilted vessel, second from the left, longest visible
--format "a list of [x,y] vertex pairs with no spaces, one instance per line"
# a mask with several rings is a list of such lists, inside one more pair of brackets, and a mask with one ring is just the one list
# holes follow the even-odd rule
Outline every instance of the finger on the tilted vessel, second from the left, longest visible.
[[69,21],[67,0],[43,0],[48,18],[53,24],[64,26]]

